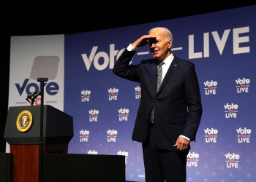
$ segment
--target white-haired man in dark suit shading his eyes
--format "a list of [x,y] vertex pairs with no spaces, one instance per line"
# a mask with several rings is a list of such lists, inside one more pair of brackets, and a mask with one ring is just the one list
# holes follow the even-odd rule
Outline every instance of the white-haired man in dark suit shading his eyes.
[[[146,44],[154,59],[129,65]],[[146,182],[186,181],[189,141],[195,141],[202,115],[195,65],[174,56],[172,44],[167,28],[152,28],[124,50],[113,68],[114,74],[140,82],[132,140],[143,143]]]

